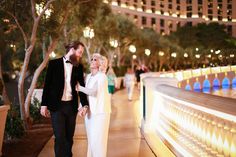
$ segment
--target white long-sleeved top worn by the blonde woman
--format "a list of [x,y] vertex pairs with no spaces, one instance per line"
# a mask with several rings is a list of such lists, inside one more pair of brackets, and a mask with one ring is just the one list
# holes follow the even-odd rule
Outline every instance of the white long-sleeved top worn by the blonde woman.
[[92,76],[90,73],[85,82],[85,88],[80,86],[79,90],[88,95],[91,113],[111,113],[111,100],[108,93],[106,74],[98,72]]

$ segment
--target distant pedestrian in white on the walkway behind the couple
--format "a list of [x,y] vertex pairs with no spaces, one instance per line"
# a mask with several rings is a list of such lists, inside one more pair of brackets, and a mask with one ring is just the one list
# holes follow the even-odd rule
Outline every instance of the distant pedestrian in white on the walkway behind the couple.
[[135,84],[135,75],[132,69],[128,68],[124,76],[124,86],[127,89],[129,101],[131,101],[133,97],[134,84]]

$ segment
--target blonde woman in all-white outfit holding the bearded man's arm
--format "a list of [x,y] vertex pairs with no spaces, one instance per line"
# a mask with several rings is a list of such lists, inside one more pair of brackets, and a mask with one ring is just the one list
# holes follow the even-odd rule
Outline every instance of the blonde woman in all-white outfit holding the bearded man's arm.
[[[106,58],[93,54],[85,88],[77,85],[77,90],[88,95],[89,111],[85,116],[88,138],[87,157],[106,157],[107,141],[111,113],[111,101],[108,93]],[[79,109],[80,110],[80,109]]]

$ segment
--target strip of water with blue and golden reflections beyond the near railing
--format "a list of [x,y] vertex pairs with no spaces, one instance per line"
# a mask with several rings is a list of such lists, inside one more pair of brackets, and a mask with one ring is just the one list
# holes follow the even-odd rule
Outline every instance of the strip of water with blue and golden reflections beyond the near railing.
[[222,88],[220,87],[203,88],[202,92],[236,99],[236,86],[232,86],[232,87],[223,86]]

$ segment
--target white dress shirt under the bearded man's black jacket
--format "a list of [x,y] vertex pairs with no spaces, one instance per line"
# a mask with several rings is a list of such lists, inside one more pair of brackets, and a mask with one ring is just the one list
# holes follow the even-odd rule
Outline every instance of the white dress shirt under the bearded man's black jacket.
[[65,83],[64,83],[64,90],[61,100],[62,101],[70,101],[72,100],[72,89],[71,89],[71,73],[73,65],[71,63],[66,63],[66,58],[63,57],[63,64],[64,64],[64,77],[65,77]]

